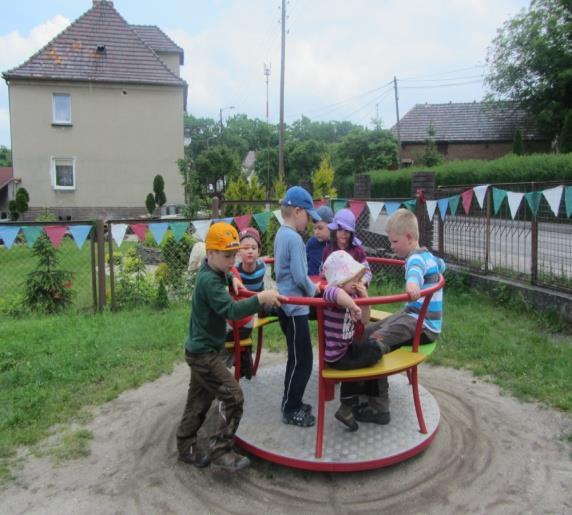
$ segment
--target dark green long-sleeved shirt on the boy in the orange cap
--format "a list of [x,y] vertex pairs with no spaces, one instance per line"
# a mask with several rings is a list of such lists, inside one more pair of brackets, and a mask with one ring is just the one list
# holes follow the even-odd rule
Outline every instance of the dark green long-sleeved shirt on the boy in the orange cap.
[[257,313],[258,297],[234,300],[228,292],[232,274],[216,272],[205,262],[193,292],[189,336],[185,348],[197,354],[219,352],[224,345],[226,321]]

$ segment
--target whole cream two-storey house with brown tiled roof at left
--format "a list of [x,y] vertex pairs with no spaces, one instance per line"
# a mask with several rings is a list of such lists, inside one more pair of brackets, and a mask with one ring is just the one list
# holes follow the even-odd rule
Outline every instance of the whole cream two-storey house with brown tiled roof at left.
[[8,84],[13,174],[35,218],[135,217],[153,177],[183,202],[187,83],[183,50],[155,26],[129,25],[113,3],[86,13],[21,66]]

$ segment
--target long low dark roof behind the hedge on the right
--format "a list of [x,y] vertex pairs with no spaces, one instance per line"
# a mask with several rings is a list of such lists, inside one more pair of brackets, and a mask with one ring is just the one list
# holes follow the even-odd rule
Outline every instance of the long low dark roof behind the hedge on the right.
[[[402,143],[423,142],[429,125],[435,129],[435,141],[512,141],[516,129],[525,140],[547,140],[535,120],[512,103],[481,102],[417,104],[399,120]],[[397,127],[391,132],[397,137]]]

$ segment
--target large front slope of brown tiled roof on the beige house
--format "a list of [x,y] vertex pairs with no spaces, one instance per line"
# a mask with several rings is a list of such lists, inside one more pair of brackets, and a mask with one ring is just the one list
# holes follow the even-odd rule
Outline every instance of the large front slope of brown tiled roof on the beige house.
[[103,0],[3,77],[186,86]]

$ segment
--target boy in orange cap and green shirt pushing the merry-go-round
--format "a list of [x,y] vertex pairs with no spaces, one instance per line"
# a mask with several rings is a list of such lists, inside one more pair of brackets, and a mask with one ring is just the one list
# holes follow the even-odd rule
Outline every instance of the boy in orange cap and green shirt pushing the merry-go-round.
[[[234,301],[229,286],[237,289],[230,273],[240,248],[236,229],[225,222],[213,224],[205,238],[207,259],[197,274],[193,291],[185,359],[191,381],[183,418],[177,430],[179,459],[196,467],[211,463],[235,471],[250,464],[232,449],[242,417],[244,398],[239,384],[219,353],[224,345],[226,320],[238,320],[257,313],[261,305],[279,306],[285,300],[276,290],[266,290],[248,299]],[[210,435],[210,456],[197,448],[197,433],[213,400],[218,400],[220,418]]]

